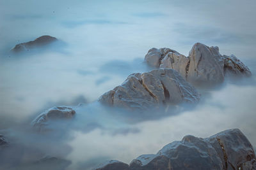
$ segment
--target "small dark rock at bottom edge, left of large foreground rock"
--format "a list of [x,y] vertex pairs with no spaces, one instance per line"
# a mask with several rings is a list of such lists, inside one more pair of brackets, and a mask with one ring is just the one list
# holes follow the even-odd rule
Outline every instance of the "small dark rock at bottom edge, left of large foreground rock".
[[129,166],[118,160],[107,160],[99,166],[95,167],[93,170],[128,170]]

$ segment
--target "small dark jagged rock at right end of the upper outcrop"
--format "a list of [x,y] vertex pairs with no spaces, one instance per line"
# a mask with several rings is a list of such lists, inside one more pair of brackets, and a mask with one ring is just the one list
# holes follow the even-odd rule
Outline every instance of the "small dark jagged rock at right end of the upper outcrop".
[[252,75],[250,69],[241,60],[237,59],[235,55],[223,55],[223,60],[225,73],[243,74],[245,76]]

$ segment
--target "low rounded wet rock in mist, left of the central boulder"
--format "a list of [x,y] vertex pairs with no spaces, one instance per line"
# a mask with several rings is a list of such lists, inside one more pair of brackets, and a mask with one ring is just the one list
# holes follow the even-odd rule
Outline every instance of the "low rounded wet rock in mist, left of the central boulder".
[[47,125],[48,120],[72,118],[75,114],[76,111],[72,110],[72,108],[68,108],[66,106],[56,106],[41,113],[35,118],[35,120],[31,122],[31,124],[33,127],[40,130],[42,127]]

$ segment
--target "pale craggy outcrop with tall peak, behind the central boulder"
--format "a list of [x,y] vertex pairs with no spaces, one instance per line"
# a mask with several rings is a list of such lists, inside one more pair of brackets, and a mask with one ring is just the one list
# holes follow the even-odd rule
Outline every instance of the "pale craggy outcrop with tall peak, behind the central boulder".
[[145,56],[145,62],[152,67],[172,68],[193,84],[221,83],[225,73],[250,76],[251,72],[234,55],[221,55],[218,46],[195,43],[189,56],[170,48],[152,48]]

